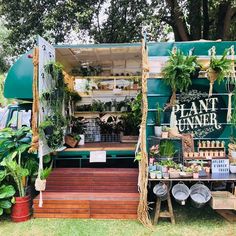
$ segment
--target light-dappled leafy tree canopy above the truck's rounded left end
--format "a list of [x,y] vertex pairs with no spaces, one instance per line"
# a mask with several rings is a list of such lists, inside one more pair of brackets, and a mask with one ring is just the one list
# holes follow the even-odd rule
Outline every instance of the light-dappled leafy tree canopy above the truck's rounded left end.
[[71,31],[83,37],[96,3],[96,0],[0,0],[0,13],[10,30],[7,43],[16,53],[22,53],[32,48],[38,34],[51,43],[64,42]]

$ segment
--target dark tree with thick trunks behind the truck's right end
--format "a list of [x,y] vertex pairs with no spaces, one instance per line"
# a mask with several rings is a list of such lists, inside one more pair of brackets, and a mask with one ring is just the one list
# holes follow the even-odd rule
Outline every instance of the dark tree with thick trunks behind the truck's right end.
[[152,7],[158,9],[154,17],[172,27],[176,41],[236,38],[234,0],[154,0]]

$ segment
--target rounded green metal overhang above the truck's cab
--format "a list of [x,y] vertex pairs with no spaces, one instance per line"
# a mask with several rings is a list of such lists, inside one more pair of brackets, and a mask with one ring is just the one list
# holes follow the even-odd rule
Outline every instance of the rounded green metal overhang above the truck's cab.
[[4,86],[4,96],[21,100],[32,100],[33,62],[32,51],[22,55],[10,68]]

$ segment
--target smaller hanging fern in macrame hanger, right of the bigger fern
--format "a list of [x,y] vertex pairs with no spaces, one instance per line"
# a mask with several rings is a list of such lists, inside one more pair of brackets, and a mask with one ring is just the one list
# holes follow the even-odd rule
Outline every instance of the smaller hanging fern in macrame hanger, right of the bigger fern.
[[207,69],[207,77],[210,81],[209,96],[212,95],[214,82],[223,81],[232,69],[232,60],[227,58],[228,51],[229,49],[226,49],[220,58],[216,57],[215,52],[211,54],[210,65]]

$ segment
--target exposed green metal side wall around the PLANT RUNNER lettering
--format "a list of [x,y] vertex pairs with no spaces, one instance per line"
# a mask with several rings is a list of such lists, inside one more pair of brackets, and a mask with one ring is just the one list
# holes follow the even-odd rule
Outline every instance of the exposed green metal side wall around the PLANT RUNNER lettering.
[[[186,54],[191,48],[195,48],[195,55],[208,55],[208,50],[212,46],[216,46],[217,55],[220,55],[224,52],[226,48],[234,45],[236,47],[236,42],[184,42],[184,43],[150,43],[149,44],[149,56],[168,56],[169,51],[173,48],[173,46],[177,46]],[[203,92],[208,93],[209,90],[209,81],[206,78],[198,78],[192,80],[192,86],[189,88],[197,89]],[[226,115],[228,109],[228,94],[226,91],[225,82],[218,84],[217,82],[214,84],[214,96],[218,98],[217,104],[217,120],[221,128],[214,132],[209,132],[206,134],[204,138],[196,138],[196,142],[198,139],[219,139],[225,140],[228,142],[230,135],[236,134],[235,129],[232,128],[230,123],[226,122]],[[180,94],[180,92],[179,92]],[[171,97],[171,89],[168,87],[163,79],[148,79],[148,117],[147,117],[147,138],[154,135],[154,123],[155,123],[155,113],[157,103],[164,107]],[[186,102],[188,103],[188,102]],[[189,102],[191,104],[191,102]],[[188,104],[188,105],[189,105]],[[187,108],[189,109],[189,107]],[[169,125],[170,122],[170,114],[171,111],[165,111],[162,116],[162,123],[165,125]],[[203,128],[204,130],[204,128]],[[149,147],[147,147],[149,148]]]

